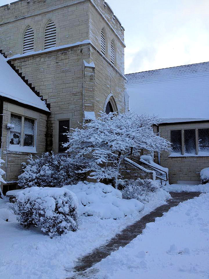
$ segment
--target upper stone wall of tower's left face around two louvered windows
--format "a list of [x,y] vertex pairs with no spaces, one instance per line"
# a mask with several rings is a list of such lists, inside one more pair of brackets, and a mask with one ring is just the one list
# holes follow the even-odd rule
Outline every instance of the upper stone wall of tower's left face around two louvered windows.
[[[22,54],[24,32],[30,25],[34,30],[34,51],[43,50],[44,28],[50,19],[57,28],[56,46],[88,40],[89,3],[77,2],[72,5],[73,0],[32,0],[27,4],[26,0],[20,0],[11,3],[10,9],[0,7],[0,49],[8,57]],[[68,5],[59,8],[61,4]],[[52,8],[55,9],[48,10]]]

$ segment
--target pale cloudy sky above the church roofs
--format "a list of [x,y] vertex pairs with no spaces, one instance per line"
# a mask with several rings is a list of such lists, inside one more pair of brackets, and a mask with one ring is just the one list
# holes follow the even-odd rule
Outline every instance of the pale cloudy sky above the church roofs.
[[209,0],[107,2],[125,27],[125,74],[209,61]]

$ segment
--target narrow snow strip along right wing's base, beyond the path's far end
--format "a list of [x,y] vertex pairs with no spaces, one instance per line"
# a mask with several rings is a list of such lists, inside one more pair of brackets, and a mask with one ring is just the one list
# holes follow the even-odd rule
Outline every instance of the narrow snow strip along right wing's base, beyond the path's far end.
[[209,192],[209,183],[199,185],[187,185],[187,184],[171,184],[162,186],[167,192]]

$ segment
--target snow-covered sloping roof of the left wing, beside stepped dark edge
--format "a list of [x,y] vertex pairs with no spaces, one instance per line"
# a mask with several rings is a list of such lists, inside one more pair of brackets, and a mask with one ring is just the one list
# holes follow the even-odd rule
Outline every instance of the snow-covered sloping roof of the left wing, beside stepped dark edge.
[[0,54],[0,96],[50,112],[45,102],[24,83],[2,54]]

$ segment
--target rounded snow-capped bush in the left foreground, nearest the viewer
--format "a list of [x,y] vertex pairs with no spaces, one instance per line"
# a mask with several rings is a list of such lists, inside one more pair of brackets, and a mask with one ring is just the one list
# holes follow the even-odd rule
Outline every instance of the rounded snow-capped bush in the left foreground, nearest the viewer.
[[12,208],[23,227],[40,227],[51,238],[78,228],[78,199],[66,188],[25,189]]

